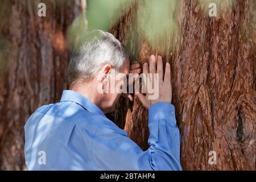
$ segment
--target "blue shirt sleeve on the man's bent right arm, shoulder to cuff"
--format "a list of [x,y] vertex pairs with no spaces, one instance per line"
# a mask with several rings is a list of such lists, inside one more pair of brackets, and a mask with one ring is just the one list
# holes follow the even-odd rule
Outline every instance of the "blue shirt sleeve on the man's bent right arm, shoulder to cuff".
[[92,143],[96,169],[102,170],[181,170],[180,133],[175,108],[158,102],[148,109],[149,148],[143,151],[127,133],[102,125]]

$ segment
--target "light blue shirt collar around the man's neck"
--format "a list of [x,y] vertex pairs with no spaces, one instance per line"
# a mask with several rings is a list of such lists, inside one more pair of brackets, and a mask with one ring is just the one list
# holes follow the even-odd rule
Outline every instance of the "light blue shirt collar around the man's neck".
[[75,92],[73,90],[63,90],[60,102],[62,101],[76,102],[76,104],[79,104],[91,113],[101,114],[104,115],[104,117],[106,117],[105,114],[102,113],[100,108],[98,108],[98,106],[96,106],[92,101],[90,101],[82,94]]

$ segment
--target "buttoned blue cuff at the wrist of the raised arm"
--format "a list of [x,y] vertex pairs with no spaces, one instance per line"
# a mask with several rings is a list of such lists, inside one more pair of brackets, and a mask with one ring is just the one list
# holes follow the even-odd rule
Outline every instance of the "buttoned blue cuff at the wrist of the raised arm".
[[175,107],[168,102],[156,102],[148,108],[148,123],[167,119],[176,125]]

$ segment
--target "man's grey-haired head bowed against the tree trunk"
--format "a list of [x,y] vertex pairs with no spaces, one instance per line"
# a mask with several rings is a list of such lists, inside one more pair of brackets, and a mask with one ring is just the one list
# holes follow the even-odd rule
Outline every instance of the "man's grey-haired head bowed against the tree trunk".
[[122,44],[109,32],[94,30],[88,32],[73,50],[68,82],[71,90],[84,94],[108,113],[114,110],[122,89],[118,84],[119,89],[109,92],[110,86],[121,81],[117,73],[128,75],[129,70],[129,57]]

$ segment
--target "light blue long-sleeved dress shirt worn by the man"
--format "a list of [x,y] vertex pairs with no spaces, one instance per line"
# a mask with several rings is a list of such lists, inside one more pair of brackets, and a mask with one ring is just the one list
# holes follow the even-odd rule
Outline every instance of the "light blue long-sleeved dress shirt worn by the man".
[[148,109],[149,148],[143,151],[88,98],[64,90],[61,101],[28,119],[24,154],[28,170],[181,170],[174,106]]

